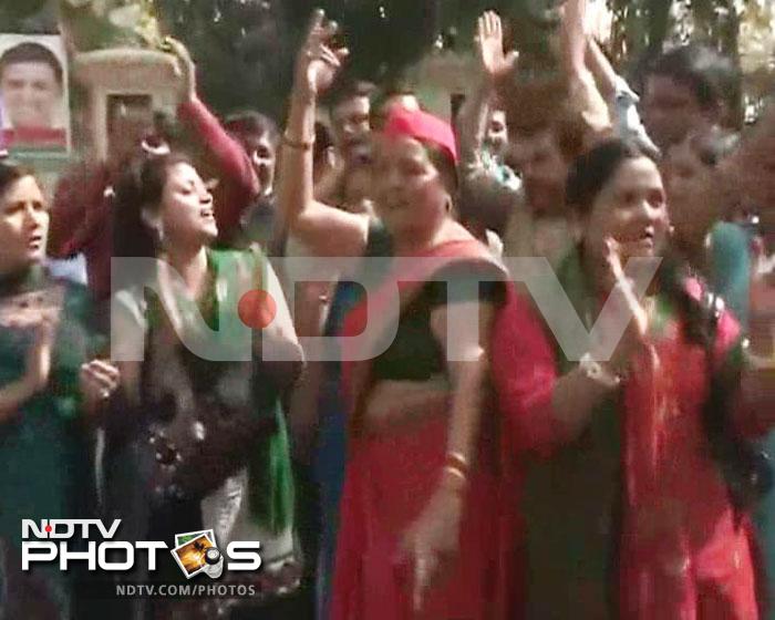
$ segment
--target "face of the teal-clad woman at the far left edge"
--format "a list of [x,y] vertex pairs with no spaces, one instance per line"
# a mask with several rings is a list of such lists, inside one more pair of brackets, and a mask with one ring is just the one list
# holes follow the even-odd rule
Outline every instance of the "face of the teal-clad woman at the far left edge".
[[32,176],[22,177],[0,197],[0,269],[11,272],[41,262],[49,236],[49,211]]

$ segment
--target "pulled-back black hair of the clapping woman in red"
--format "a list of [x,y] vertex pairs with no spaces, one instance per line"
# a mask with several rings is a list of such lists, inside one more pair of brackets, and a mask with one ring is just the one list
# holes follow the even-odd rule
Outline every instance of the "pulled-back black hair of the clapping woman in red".
[[566,204],[581,215],[589,215],[595,199],[628,159],[653,158],[637,143],[610,138],[578,157],[566,183]]

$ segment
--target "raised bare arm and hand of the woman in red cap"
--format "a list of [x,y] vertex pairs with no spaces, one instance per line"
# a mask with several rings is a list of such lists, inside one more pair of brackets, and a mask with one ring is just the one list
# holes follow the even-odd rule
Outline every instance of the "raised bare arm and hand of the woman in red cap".
[[314,199],[312,145],[318,95],[331,85],[347,58],[345,49],[333,50],[328,42],[337,24],[326,23],[316,11],[296,64],[288,124],[280,151],[278,205],[281,225],[316,255],[361,256],[365,249],[369,218],[348,214]]

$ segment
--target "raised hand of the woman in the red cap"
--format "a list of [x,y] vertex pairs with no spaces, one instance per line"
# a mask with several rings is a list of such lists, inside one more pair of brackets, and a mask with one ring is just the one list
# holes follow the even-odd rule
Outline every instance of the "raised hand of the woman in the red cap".
[[296,60],[296,94],[316,97],[331,86],[349,54],[347,48],[334,48],[331,43],[338,30],[337,22],[326,19],[324,11],[314,11],[307,39]]

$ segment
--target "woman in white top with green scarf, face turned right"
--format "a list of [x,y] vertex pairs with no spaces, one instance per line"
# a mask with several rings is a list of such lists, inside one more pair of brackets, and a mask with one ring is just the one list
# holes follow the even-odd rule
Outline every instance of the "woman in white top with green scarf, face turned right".
[[[214,529],[221,551],[259,540],[257,576],[281,571],[294,544],[280,396],[302,352],[277,277],[257,249],[209,247],[218,234],[213,196],[178,154],[131,167],[116,188],[114,230],[118,257],[156,260],[114,262],[122,389],[108,426],[110,517],[137,539],[168,545],[199,529]],[[144,293],[146,282],[155,294]],[[266,361],[267,347],[285,361]],[[165,568],[180,577],[172,562]]]

